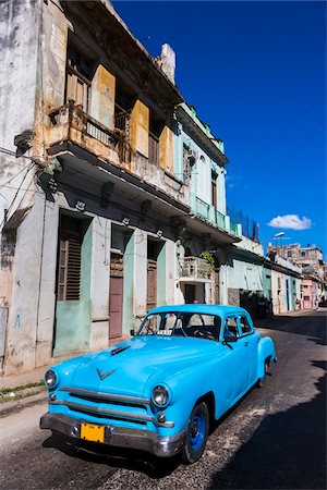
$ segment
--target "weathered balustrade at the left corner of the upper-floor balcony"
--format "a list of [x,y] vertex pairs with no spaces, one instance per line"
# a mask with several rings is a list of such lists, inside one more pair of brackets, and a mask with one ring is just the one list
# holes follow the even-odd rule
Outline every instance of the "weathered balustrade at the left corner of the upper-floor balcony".
[[113,130],[96,121],[73,101],[52,110],[49,119],[50,125],[46,130],[49,147],[72,142],[101,159],[110,158],[117,164],[129,159],[129,112],[114,114]]

